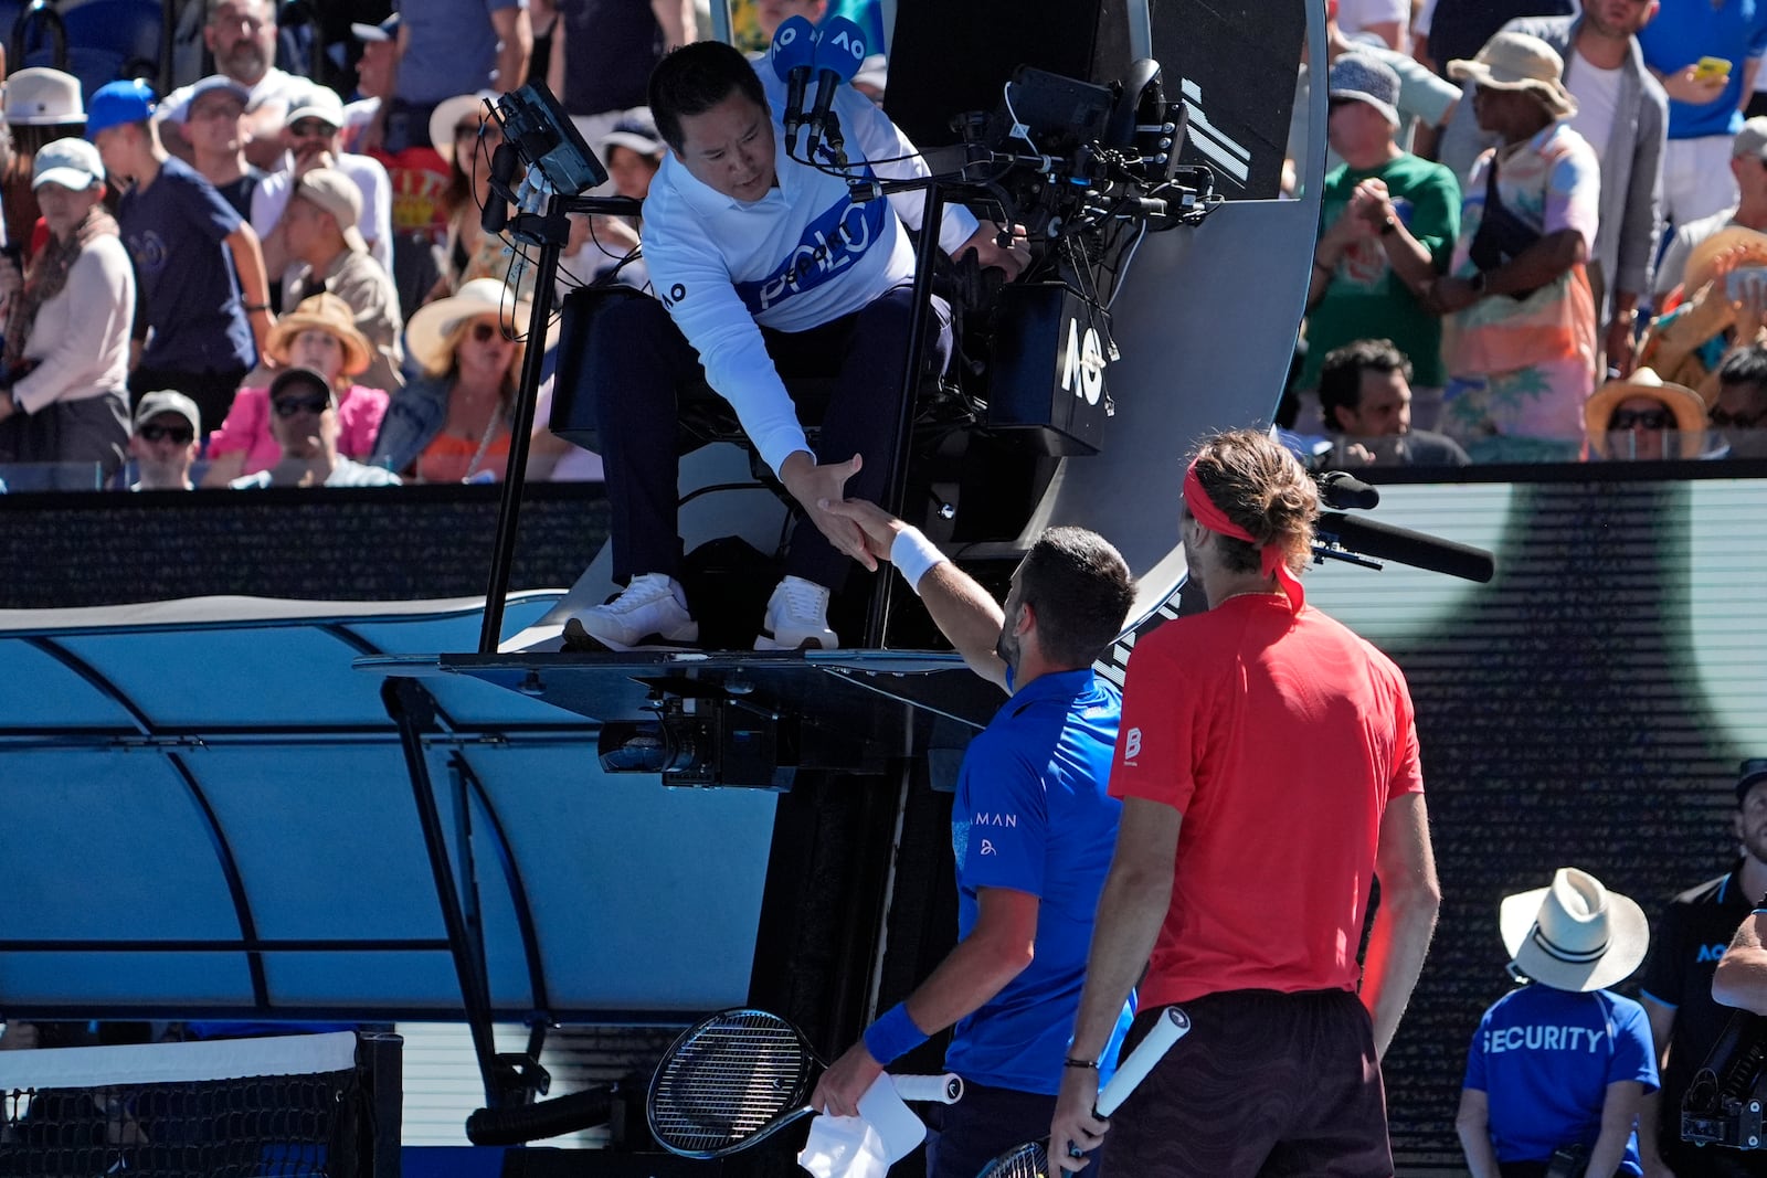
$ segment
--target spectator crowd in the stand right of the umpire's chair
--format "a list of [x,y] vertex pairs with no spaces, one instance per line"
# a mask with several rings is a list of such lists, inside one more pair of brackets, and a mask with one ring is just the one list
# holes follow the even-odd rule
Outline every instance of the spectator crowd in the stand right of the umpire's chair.
[[[1352,466],[1760,454],[1767,7],[1327,12],[1290,443]],[[1290,155],[1304,187],[1299,122]]]

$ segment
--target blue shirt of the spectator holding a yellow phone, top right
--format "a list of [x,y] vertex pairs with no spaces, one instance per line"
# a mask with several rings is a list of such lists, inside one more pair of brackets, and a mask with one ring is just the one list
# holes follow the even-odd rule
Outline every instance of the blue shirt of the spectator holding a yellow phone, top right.
[[1742,65],[1767,53],[1767,0],[1675,4],[1638,30],[1645,65],[1659,74],[1687,69],[1702,57],[1730,62],[1730,83],[1718,101],[1689,106],[1670,99],[1668,138],[1735,134],[1742,127]]

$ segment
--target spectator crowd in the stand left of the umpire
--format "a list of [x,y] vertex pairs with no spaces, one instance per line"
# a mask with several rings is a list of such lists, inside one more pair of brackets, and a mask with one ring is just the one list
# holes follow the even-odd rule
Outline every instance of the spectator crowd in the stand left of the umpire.
[[[481,224],[484,99],[550,81],[641,198],[645,81],[696,37],[691,0],[337,5],[355,23],[295,30],[272,0],[173,7],[166,94],[35,60],[5,79],[11,487],[502,479],[534,267]],[[560,291],[641,286],[636,245],[636,217],[574,219]],[[534,434],[530,479],[599,479],[544,410]]]

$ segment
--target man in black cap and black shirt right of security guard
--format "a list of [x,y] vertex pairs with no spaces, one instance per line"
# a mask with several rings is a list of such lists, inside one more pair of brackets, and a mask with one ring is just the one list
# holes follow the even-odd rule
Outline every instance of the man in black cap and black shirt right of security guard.
[[1767,1153],[1700,1148],[1680,1139],[1680,1099],[1732,1010],[1712,996],[1712,975],[1730,936],[1767,895],[1767,759],[1742,761],[1732,827],[1742,858],[1668,902],[1650,934],[1638,1000],[1650,1017],[1663,1090],[1638,1111],[1645,1178],[1767,1174]]

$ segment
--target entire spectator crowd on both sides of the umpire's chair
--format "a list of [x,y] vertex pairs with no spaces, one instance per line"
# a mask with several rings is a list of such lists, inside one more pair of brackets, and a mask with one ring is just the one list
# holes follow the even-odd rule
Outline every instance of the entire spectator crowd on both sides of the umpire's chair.
[[[341,459],[399,479],[502,477],[518,369],[466,380],[461,364],[488,343],[493,288],[500,350],[523,353],[535,267],[481,221],[502,141],[484,99],[546,81],[608,164],[606,191],[641,200],[666,152],[647,78],[703,16],[691,0],[391,7],[327,58],[290,48],[272,0],[184,0],[184,85],[164,95],[35,64],[7,78],[0,464],[49,486],[157,484],[136,479],[140,410],[177,392],[198,415],[198,486],[281,482],[299,463],[277,450],[269,390],[309,367],[332,403],[307,442],[334,433]],[[753,9],[765,41],[829,0]],[[1767,5],[1327,11],[1329,60],[1301,69],[1302,94],[1325,74],[1329,113],[1278,413],[1292,445],[1348,466],[1767,452]],[[855,85],[880,95],[882,64]],[[640,233],[636,215],[573,214],[558,293],[647,288]],[[431,313],[419,357],[410,328],[431,306],[465,318]],[[498,381],[489,417],[454,404]],[[599,477],[544,424],[534,454],[530,477]]]

